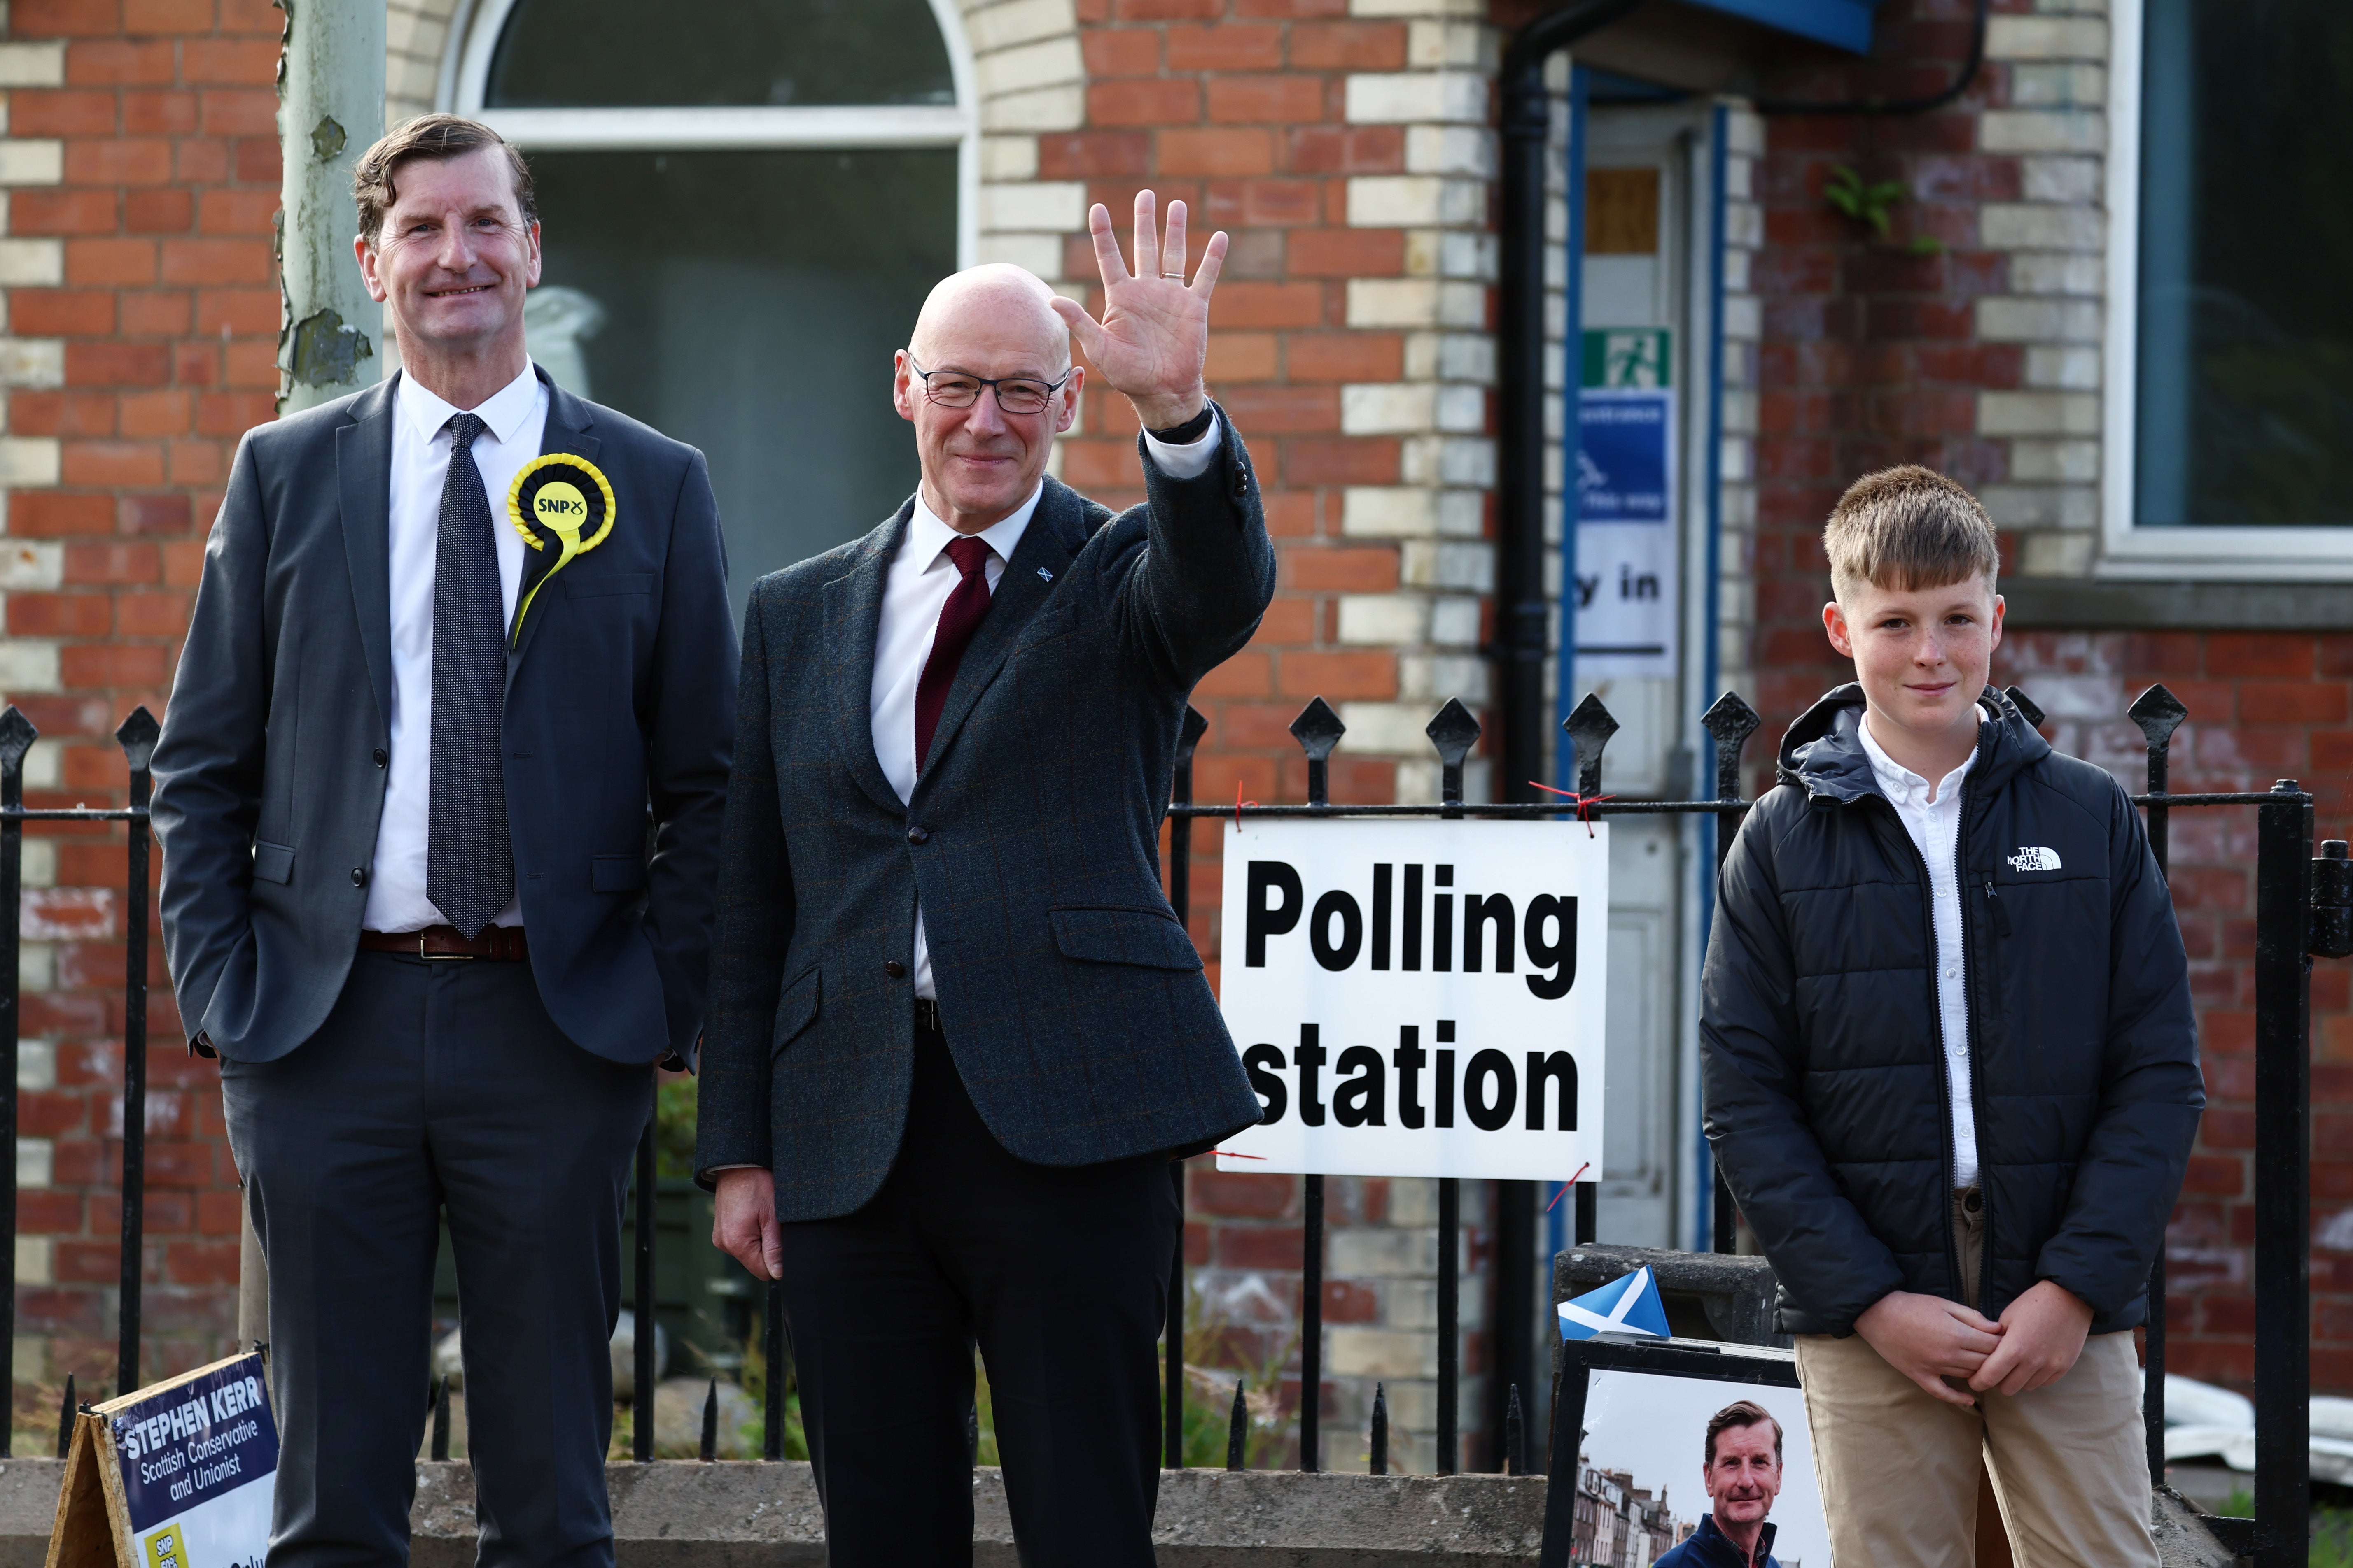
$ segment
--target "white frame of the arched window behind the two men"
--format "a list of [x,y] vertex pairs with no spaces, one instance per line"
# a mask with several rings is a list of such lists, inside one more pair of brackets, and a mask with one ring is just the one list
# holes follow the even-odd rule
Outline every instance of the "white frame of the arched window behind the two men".
[[527,153],[955,148],[955,266],[974,263],[981,233],[981,127],[974,113],[979,94],[972,40],[955,0],[929,0],[948,49],[955,103],[485,108],[489,61],[515,5],[518,0],[475,0],[452,28],[459,47],[440,80],[445,110],[482,120]]

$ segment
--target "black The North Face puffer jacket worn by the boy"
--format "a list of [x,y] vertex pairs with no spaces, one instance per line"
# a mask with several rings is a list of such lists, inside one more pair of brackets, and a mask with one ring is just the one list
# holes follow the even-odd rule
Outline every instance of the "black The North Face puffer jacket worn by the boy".
[[[2141,816],[1988,689],[1962,783],[1960,905],[1986,1258],[1979,1309],[2052,1279],[2092,1333],[2148,1309],[2205,1088],[2188,961]],[[1960,1300],[1929,879],[1840,686],[1718,884],[1701,978],[1706,1131],[1781,1279],[1784,1333],[1889,1291]]]

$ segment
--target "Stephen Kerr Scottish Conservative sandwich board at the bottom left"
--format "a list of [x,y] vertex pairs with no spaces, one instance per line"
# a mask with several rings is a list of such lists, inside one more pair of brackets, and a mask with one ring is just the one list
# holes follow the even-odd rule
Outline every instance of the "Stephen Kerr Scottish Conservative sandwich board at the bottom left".
[[75,1420],[49,1568],[261,1568],[278,1425],[261,1356],[231,1356]]

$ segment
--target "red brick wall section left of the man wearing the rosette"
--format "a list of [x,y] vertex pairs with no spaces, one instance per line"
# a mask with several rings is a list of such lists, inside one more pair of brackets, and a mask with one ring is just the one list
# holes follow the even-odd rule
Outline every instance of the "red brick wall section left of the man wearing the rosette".
[[[0,686],[42,731],[33,804],[122,804],[111,733],[162,710],[228,456],[273,416],[280,24],[266,0],[7,14]],[[26,842],[19,1380],[113,1375],[122,844]],[[219,1079],[179,1044],[160,947],[151,980],[148,1378],[228,1345],[238,1274]]]

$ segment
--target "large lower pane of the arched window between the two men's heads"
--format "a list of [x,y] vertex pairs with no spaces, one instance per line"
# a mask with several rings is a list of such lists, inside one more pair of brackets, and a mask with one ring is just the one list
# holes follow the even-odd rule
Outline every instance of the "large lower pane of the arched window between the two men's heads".
[[906,501],[889,367],[955,270],[953,150],[539,153],[532,172],[532,355],[704,449],[736,618],[753,578]]

